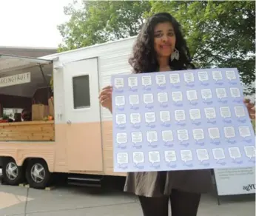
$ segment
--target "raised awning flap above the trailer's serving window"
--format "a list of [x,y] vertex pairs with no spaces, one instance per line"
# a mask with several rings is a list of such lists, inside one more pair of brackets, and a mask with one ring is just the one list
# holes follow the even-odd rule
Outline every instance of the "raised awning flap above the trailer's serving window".
[[0,54],[0,74],[1,72],[21,70],[36,65],[51,64],[53,60],[42,58],[30,58],[18,55],[1,55]]

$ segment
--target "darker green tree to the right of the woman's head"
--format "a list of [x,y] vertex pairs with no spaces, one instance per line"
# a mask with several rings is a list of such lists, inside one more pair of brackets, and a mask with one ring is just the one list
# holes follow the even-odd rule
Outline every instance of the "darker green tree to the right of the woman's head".
[[255,1],[150,1],[153,13],[169,12],[181,23],[198,67],[237,67],[255,92]]

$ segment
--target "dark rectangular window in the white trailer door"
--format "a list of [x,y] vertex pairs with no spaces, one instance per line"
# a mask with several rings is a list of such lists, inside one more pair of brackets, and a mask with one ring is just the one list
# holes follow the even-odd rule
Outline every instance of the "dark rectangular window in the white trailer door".
[[74,108],[90,107],[90,81],[89,75],[73,77]]

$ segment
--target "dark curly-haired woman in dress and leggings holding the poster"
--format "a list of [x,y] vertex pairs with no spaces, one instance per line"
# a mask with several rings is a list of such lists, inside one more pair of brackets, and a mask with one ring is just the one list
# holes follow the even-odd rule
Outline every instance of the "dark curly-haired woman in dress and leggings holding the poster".
[[[194,69],[180,25],[169,13],[149,18],[138,35],[129,63],[135,73]],[[103,107],[112,112],[112,87],[99,95]],[[253,104],[246,101],[255,118]],[[211,189],[210,170],[129,172],[124,191],[138,195],[144,216],[195,216],[201,193]]]

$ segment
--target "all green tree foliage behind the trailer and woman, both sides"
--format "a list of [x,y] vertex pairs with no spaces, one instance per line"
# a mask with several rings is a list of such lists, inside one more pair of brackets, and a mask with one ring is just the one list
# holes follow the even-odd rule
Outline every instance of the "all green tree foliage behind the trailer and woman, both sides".
[[255,92],[255,1],[82,1],[58,26],[60,50],[135,36],[153,13],[169,12],[181,23],[197,67],[238,67],[247,92]]

